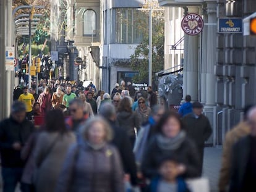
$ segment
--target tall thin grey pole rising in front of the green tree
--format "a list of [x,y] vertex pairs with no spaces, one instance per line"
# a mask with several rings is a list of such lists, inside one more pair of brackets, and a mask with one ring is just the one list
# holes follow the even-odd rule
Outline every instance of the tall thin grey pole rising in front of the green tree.
[[152,5],[150,2],[149,15],[149,52],[148,52],[148,86],[152,85]]

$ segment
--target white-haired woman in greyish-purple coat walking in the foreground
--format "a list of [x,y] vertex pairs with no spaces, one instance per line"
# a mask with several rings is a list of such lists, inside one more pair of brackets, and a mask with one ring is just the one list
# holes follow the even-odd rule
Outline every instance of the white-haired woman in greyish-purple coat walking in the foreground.
[[80,127],[81,140],[70,147],[56,191],[124,192],[124,172],[117,149],[108,144],[111,128],[101,117]]

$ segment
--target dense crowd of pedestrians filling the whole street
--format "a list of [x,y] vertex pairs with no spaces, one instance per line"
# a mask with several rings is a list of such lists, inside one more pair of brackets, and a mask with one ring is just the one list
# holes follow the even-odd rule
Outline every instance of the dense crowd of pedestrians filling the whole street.
[[[187,179],[202,177],[212,129],[200,102],[186,96],[181,110],[171,112],[151,87],[135,91],[130,82],[116,83],[111,94],[95,94],[92,83],[52,84],[41,81],[38,95],[24,87],[11,116],[0,122],[3,192],[15,191],[17,183],[22,192],[185,192],[191,190]],[[253,186],[255,114],[253,107],[247,131],[233,133],[238,142],[227,146],[230,177],[223,175],[228,179],[221,186],[230,184],[229,191]],[[36,115],[44,118],[39,128],[31,120]]]

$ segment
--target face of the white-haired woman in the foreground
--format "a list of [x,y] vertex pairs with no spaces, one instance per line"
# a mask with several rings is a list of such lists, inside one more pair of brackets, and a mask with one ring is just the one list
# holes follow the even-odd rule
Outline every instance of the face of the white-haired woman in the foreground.
[[88,140],[93,144],[101,144],[105,140],[106,131],[105,127],[100,122],[93,123],[88,131]]

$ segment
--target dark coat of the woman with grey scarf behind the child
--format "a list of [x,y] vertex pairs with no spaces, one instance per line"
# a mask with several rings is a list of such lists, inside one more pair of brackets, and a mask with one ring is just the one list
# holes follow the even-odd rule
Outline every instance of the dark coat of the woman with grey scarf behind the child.
[[[176,156],[181,164],[186,166],[186,172],[182,175],[186,177],[200,176],[200,161],[195,143],[186,138],[177,149],[163,149],[161,143],[154,136],[145,150],[142,160],[142,172],[145,177],[152,178],[158,176],[158,167],[161,159],[168,156]],[[168,147],[168,146],[164,146]]]

